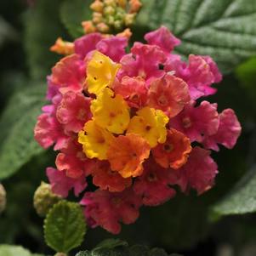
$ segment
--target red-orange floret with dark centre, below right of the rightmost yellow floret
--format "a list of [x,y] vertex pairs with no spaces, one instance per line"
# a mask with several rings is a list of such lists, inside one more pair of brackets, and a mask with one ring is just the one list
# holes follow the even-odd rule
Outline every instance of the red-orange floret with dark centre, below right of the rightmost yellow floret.
[[156,162],[163,168],[179,169],[187,161],[191,149],[189,138],[175,129],[170,129],[166,142],[157,145],[152,153]]

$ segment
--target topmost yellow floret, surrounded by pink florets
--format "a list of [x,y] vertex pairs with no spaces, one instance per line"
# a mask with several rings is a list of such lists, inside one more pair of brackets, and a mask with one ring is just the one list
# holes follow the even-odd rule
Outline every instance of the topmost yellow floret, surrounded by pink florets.
[[98,95],[104,88],[111,87],[120,66],[109,57],[95,51],[87,66],[86,84],[88,92]]

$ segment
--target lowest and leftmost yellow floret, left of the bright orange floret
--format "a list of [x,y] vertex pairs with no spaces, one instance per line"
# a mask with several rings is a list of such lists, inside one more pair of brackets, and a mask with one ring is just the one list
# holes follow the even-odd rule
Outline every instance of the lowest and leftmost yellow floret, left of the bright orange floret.
[[113,139],[114,136],[110,132],[100,128],[92,120],[86,122],[83,130],[78,134],[78,142],[82,144],[82,151],[86,156],[100,160],[107,159],[106,152]]

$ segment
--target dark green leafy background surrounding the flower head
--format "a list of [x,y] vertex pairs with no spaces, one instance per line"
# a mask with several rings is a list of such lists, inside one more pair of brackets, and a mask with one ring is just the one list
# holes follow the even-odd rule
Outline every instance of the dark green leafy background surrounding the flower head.
[[[256,2],[255,0],[144,0],[134,40],[165,25],[183,40],[177,52],[210,54],[225,72],[218,94],[219,111],[233,108],[242,136],[232,151],[213,153],[219,164],[216,185],[203,196],[179,195],[157,208],[143,208],[119,238],[130,244],[164,247],[185,255],[256,255]],[[0,218],[0,244],[19,244],[49,253],[43,220],[32,196],[54,152],[33,139],[44,104],[47,74],[60,56],[48,48],[56,37],[82,35],[90,19],[90,0],[1,0],[0,2],[0,180],[8,207]],[[239,215],[238,215],[239,214]],[[227,216],[229,215],[229,216]],[[230,216],[232,215],[232,216]],[[88,230],[83,248],[92,248],[105,230]],[[229,254],[230,253],[230,254]],[[251,253],[251,254],[250,254]]]

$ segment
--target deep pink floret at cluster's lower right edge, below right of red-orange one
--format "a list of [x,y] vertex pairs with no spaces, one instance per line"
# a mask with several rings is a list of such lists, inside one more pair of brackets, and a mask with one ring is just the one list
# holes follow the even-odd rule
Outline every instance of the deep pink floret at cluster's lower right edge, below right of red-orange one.
[[196,146],[191,151],[188,162],[179,170],[173,171],[173,184],[179,185],[182,191],[195,189],[201,195],[212,188],[216,174],[218,166],[210,156],[210,151]]

